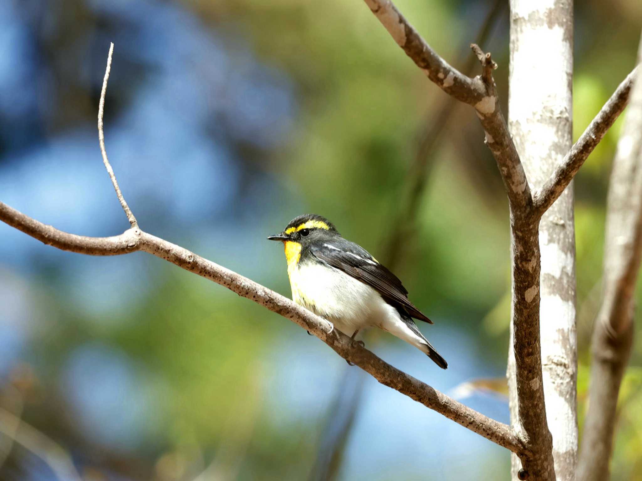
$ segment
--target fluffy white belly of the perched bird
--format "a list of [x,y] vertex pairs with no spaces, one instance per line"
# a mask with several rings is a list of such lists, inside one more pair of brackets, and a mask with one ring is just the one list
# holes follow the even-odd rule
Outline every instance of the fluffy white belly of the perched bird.
[[381,327],[394,310],[369,285],[322,264],[290,270],[292,300],[325,317],[347,335],[367,326]]

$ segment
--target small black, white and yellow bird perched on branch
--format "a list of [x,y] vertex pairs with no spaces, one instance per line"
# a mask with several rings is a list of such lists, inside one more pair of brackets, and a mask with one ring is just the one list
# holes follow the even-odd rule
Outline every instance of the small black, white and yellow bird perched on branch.
[[412,318],[433,321],[408,300],[399,278],[361,246],[343,239],[325,217],[299,215],[268,239],[285,246],[292,300],[297,304],[352,339],[361,329],[377,326],[419,348],[442,369],[448,367]]

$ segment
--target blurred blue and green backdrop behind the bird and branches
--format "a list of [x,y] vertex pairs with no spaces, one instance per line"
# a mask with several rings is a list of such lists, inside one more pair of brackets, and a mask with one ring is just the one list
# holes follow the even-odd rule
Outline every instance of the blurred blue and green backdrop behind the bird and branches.
[[[397,6],[451,61],[460,41],[474,41],[471,32],[492,5]],[[630,71],[641,22],[635,0],[577,4],[574,139]],[[345,237],[383,253],[381,239],[404,202],[416,132],[437,116],[445,95],[358,0],[324,8],[290,0],[10,0],[0,2],[0,31],[4,202],[70,232],[126,228],[95,133],[105,51],[114,41],[118,75],[110,80],[105,135],[141,227],[286,295],[282,252],[265,235],[316,211]],[[499,24],[483,46],[501,67],[507,38]],[[497,77],[505,101],[507,79]],[[452,115],[431,156],[414,240],[395,267],[435,320],[421,328],[449,369],[438,372],[385,335],[374,346],[442,391],[503,376],[508,345],[505,194],[478,120],[462,107]],[[584,306],[594,305],[602,271],[620,124],[575,185],[581,409],[595,314]],[[0,226],[0,383],[24,377],[21,419],[62,446],[89,479],[191,480],[222,451],[236,453],[230,466],[238,471],[226,472],[239,480],[308,476],[345,362],[263,308],[164,264],[43,249]],[[614,440],[615,480],[642,467],[641,362],[634,346]],[[247,392],[261,400],[243,431],[249,439],[230,440],[230,423],[240,426],[247,415],[239,410]],[[454,480],[491,471],[508,479],[505,450],[401,397],[365,380],[338,479],[430,473]],[[3,397],[1,407],[13,409],[8,402]],[[495,396],[467,403],[508,421]],[[464,444],[467,463],[459,459]],[[51,477],[46,463],[15,443],[0,468],[3,480]]]

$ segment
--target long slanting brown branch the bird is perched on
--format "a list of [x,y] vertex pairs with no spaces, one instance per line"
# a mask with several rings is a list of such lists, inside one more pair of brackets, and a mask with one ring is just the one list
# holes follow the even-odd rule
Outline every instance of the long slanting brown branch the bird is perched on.
[[140,228],[130,228],[121,235],[113,237],[74,235],[40,223],[1,202],[0,220],[45,244],[65,251],[88,255],[119,255],[144,251],[168,260],[186,271],[223,285],[239,296],[290,319],[324,341],[343,359],[361,367],[381,384],[392,387],[392,389],[443,414],[446,418],[469,428],[493,443],[504,446],[519,457],[527,458],[530,455],[510,426],[490,419],[433,389],[428,384],[390,366],[369,350],[352,342],[347,335],[333,329],[331,323],[322,317],[316,316],[281,294],[176,244],[143,232]]

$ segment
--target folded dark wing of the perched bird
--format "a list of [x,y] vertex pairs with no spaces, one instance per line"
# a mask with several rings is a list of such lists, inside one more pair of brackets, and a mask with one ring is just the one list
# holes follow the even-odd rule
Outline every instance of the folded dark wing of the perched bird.
[[430,324],[433,323],[408,300],[408,291],[403,287],[399,278],[385,266],[379,264],[367,250],[358,244],[345,239],[333,239],[312,244],[309,249],[310,253],[318,260],[372,287],[401,314]]

